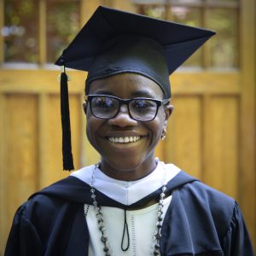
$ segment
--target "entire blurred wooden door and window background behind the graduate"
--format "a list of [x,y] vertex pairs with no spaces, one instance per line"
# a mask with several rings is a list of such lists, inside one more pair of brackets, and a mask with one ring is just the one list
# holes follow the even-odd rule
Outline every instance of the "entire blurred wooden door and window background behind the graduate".
[[[53,63],[99,5],[217,32],[170,78],[175,111],[157,156],[235,197],[255,247],[254,0],[0,0],[0,255],[17,207],[69,175]],[[99,156],[84,134],[86,73],[67,73],[79,169]]]

